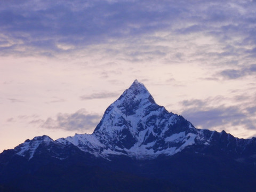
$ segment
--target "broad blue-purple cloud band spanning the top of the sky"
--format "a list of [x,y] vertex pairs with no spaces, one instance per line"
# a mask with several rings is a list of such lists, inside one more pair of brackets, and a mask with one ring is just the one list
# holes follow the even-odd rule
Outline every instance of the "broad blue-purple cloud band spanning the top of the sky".
[[[134,50],[140,45],[138,41],[156,46],[155,42],[166,39],[169,46],[175,42],[175,37],[169,39],[170,35],[183,37],[182,42],[189,43],[194,39],[189,35],[196,34],[215,38],[221,45],[230,45],[226,50],[216,52],[207,51],[212,49],[211,44],[210,49],[201,49],[214,57],[255,55],[256,29],[252,25],[256,20],[253,14],[255,3],[250,1],[57,0],[37,1],[36,5],[33,1],[15,4],[2,1],[0,7],[2,54],[53,57],[90,45],[118,41],[132,45],[127,52],[131,61],[140,61],[141,57],[150,60],[151,57],[168,57],[169,50]],[[111,46],[108,47],[111,50]],[[195,53],[200,54],[197,50]]]

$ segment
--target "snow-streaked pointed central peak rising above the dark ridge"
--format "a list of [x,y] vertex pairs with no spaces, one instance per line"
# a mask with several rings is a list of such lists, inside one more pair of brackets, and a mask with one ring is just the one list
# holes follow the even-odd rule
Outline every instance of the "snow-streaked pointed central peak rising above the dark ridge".
[[[192,145],[196,135],[191,131],[195,132],[195,127],[190,122],[158,106],[145,85],[135,80],[106,109],[92,135],[75,135],[66,140],[89,153],[95,154],[96,150],[103,156],[126,154],[142,158],[172,155]],[[181,139],[181,135],[185,138]]]

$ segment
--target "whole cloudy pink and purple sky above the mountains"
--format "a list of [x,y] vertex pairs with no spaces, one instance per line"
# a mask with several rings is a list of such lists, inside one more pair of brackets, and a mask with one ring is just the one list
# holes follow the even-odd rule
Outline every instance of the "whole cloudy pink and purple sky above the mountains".
[[256,137],[256,1],[0,1],[0,152],[92,133],[134,79],[199,129]]

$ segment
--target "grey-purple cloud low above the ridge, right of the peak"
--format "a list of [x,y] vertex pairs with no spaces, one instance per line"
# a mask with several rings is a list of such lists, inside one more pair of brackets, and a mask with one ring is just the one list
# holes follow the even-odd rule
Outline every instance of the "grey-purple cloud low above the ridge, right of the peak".
[[245,130],[256,130],[256,118],[253,115],[256,106],[244,101],[242,104],[227,106],[223,104],[227,100],[231,99],[215,97],[204,100],[185,100],[181,102],[185,108],[181,114],[201,129],[221,131],[243,127]]

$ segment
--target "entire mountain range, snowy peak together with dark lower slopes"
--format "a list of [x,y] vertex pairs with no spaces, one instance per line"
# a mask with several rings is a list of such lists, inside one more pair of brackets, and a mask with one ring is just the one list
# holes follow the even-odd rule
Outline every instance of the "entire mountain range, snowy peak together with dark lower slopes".
[[254,191],[255,182],[256,138],[196,129],[137,80],[92,134],[43,135],[0,154],[2,191]]

